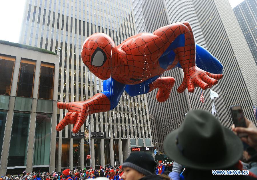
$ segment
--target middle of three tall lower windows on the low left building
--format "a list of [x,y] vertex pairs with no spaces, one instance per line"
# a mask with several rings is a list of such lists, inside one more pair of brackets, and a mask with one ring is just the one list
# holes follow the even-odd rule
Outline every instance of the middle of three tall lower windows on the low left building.
[[30,114],[14,113],[8,167],[26,166]]

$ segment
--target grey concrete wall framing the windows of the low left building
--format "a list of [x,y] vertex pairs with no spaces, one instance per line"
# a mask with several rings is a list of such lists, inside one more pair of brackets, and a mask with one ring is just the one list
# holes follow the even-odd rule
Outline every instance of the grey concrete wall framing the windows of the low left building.
[[[41,63],[51,63],[55,66],[55,75],[53,81],[53,94],[57,94],[58,91],[58,62],[59,56],[53,54],[46,54],[43,52],[38,52],[34,50],[28,50],[25,48],[19,48],[11,45],[4,45],[0,44],[0,54],[2,56],[11,56],[15,58],[12,82],[11,82],[11,92],[10,96],[8,95],[0,95],[1,96],[1,107],[5,104],[8,108],[0,108],[1,112],[7,112],[6,117],[6,124],[5,130],[3,135],[3,146],[2,146],[2,153],[1,153],[1,163],[0,163],[0,174],[6,175],[7,170],[11,171],[11,169],[19,169],[23,168],[28,172],[32,172],[32,168],[36,167],[33,165],[33,155],[34,155],[34,144],[35,144],[35,127],[36,127],[36,117],[37,114],[48,114],[52,117],[52,121],[50,126],[55,127],[57,112],[57,95],[53,95],[53,100],[44,100],[38,99],[39,94],[39,84],[40,84],[40,74],[41,74]],[[35,75],[33,81],[33,97],[32,98],[25,98],[25,97],[17,97],[16,92],[19,80],[19,72],[20,72],[20,64],[22,59],[29,59],[36,62],[35,65]],[[1,69],[2,71],[2,69]],[[26,78],[26,77],[25,77]],[[4,102],[3,100],[9,99],[9,101]],[[21,100],[21,102],[19,102]],[[26,103],[31,103],[31,106],[27,109],[23,109],[23,107],[27,107]],[[42,111],[38,103],[41,104],[50,104],[53,107],[53,111],[47,111],[47,108]],[[19,105],[19,107],[18,107]],[[48,109],[49,110],[49,109]],[[45,112],[44,112],[45,111]],[[14,113],[27,113],[30,115],[30,120],[28,126],[28,142],[26,146],[26,158],[25,158],[25,166],[8,166],[8,157],[9,157],[9,148],[10,148],[10,141],[11,141],[11,134],[12,134],[12,126],[13,126],[13,115]],[[4,121],[3,121],[4,122]],[[56,132],[51,131],[50,133],[51,139],[56,139]],[[21,142],[26,143],[26,142]],[[17,146],[19,146],[17,144]],[[55,144],[51,143],[49,153],[53,156],[53,159],[50,159],[50,163],[47,165],[50,169],[54,169],[54,159],[55,159]],[[49,157],[50,158],[50,157]]]

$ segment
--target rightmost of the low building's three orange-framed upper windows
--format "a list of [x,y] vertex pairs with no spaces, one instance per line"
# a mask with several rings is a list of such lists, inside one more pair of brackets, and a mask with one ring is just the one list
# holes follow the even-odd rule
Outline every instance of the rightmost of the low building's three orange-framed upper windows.
[[53,99],[53,82],[55,66],[52,64],[41,63],[39,80],[39,99]]

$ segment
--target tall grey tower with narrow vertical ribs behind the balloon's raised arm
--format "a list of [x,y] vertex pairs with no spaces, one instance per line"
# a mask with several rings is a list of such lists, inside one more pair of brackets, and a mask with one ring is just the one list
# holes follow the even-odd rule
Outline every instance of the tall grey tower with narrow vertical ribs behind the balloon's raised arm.
[[[164,25],[188,21],[196,43],[211,52],[224,66],[224,77],[211,88],[220,96],[215,98],[215,116],[230,128],[232,119],[229,107],[240,104],[245,116],[256,125],[252,106],[257,104],[254,96],[257,93],[254,86],[257,69],[242,33],[238,32],[240,27],[228,1],[222,1],[223,5],[218,1],[200,0],[132,2],[138,33],[153,32]],[[137,11],[136,7],[140,10]],[[144,25],[139,23],[140,19],[144,20]],[[204,109],[211,112],[213,103],[210,90],[203,92],[204,104],[200,102],[200,88],[196,88],[194,93],[188,93],[187,90],[182,94],[176,92],[183,78],[181,69],[167,71],[163,76],[173,76],[176,80],[170,98],[158,103],[155,99],[156,91],[147,96],[152,138],[160,153],[164,153],[164,138],[180,126],[188,110]]]

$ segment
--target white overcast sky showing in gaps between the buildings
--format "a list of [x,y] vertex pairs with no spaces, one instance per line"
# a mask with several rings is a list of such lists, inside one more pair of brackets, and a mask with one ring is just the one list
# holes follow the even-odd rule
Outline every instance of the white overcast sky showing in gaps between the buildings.
[[[25,1],[26,0],[0,0],[0,40],[18,43]],[[243,0],[228,1],[233,8]]]

